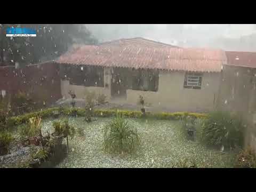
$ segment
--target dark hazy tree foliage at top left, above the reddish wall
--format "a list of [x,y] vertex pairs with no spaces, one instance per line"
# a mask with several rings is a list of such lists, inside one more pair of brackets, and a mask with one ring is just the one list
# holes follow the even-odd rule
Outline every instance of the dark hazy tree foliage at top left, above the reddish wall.
[[[9,27],[35,29],[36,37],[6,37]],[[0,65],[31,65],[52,60],[72,44],[97,44],[85,25],[0,24]]]

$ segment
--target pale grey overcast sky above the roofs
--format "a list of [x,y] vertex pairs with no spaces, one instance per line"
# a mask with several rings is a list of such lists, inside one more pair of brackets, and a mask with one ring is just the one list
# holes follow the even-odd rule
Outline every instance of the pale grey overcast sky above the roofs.
[[[254,43],[241,40],[244,36],[256,34],[254,24],[90,24],[86,26],[100,42],[143,37],[178,46],[256,51]],[[250,42],[254,41],[256,44],[256,37]]]

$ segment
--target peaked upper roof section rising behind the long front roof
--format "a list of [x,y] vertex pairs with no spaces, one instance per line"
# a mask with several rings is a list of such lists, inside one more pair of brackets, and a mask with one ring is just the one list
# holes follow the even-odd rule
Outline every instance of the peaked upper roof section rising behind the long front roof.
[[118,39],[115,41],[104,42],[100,45],[118,45],[118,46],[139,46],[139,47],[178,47],[174,45],[169,45],[161,42],[156,42],[153,40],[135,37],[135,38],[127,38],[127,39]]

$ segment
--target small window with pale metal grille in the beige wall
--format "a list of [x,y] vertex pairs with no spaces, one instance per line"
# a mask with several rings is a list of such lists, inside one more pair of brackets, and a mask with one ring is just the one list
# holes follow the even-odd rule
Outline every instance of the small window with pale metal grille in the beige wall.
[[183,87],[185,89],[201,89],[202,76],[201,73],[186,73]]

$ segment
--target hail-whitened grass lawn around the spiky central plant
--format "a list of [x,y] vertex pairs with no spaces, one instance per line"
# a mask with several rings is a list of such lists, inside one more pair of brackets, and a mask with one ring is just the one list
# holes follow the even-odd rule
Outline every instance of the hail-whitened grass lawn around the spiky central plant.
[[[231,167],[233,154],[208,149],[188,140],[179,121],[127,118],[137,127],[141,147],[135,155],[111,155],[103,150],[103,127],[111,118],[86,123],[84,117],[69,117],[69,123],[84,135],[69,140],[69,154],[57,167],[177,167],[186,161],[199,167]],[[45,119],[43,131],[52,130],[53,119]],[[66,140],[65,140],[66,141]],[[182,163],[183,162],[183,163]]]

